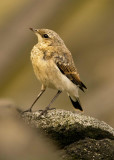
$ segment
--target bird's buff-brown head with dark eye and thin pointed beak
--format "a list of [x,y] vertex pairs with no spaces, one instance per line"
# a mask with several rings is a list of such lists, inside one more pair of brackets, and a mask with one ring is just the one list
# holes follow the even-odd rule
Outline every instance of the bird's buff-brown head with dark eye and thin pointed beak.
[[43,43],[46,46],[60,46],[63,45],[63,40],[59,35],[50,29],[33,29],[30,28],[38,37],[38,43]]

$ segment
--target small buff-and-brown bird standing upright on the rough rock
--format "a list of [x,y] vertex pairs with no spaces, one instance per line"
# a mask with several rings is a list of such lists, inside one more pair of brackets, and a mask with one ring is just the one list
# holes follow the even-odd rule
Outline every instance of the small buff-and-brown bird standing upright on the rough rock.
[[87,87],[80,80],[72,54],[64,41],[55,31],[50,29],[30,28],[30,30],[38,38],[38,43],[34,45],[30,58],[34,73],[42,85],[35,101],[24,112],[32,112],[34,104],[46,88],[56,89],[57,93],[41,114],[51,109],[51,104],[63,91],[66,91],[74,108],[83,111],[78,90],[81,89],[84,92]]

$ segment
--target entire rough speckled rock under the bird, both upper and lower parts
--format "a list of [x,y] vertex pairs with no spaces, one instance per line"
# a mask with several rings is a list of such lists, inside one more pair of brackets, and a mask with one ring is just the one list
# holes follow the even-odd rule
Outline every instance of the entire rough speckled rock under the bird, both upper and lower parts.
[[103,121],[64,110],[22,114],[30,126],[41,129],[66,160],[114,160],[114,129]]

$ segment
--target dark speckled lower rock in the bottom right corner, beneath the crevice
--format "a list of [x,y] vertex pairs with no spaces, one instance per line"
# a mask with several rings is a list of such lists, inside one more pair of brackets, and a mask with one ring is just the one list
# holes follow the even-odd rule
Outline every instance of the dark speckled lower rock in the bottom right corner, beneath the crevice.
[[114,141],[86,138],[64,148],[65,160],[114,160]]

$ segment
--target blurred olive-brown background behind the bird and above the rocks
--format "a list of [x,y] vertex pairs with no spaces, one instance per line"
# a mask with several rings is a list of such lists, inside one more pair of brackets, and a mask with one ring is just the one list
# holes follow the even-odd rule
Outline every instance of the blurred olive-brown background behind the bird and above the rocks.
[[[72,52],[81,80],[84,113],[114,127],[114,1],[4,0],[0,2],[0,97],[23,110],[40,91],[30,62],[37,38],[28,29],[55,30]],[[55,90],[47,89],[34,110],[44,108]],[[73,110],[63,93],[53,104]]]

